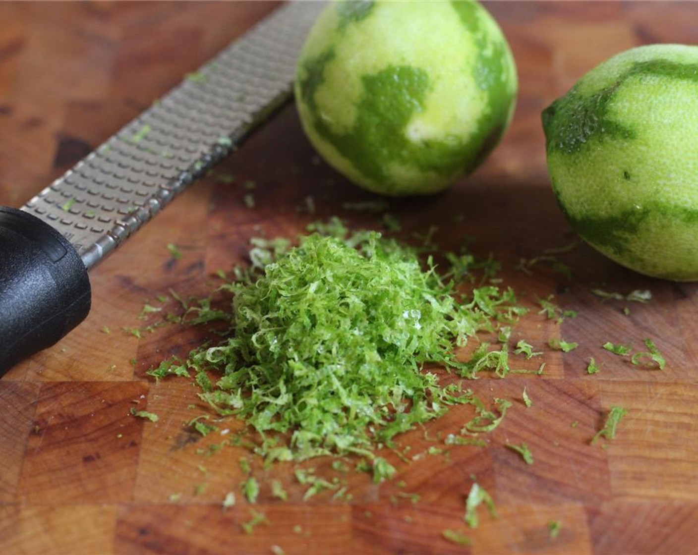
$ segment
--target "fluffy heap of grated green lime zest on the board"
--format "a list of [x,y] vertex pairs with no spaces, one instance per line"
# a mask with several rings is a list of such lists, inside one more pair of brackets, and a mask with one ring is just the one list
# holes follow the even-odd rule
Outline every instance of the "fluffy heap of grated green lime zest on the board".
[[[201,399],[258,432],[255,452],[268,462],[324,454],[373,461],[397,434],[470,402],[422,371],[428,362],[468,378],[482,369],[505,376],[506,350],[500,362],[488,355],[473,367],[453,348],[525,313],[511,289],[483,286],[466,298],[418,249],[377,232],[350,234],[339,219],[311,231],[295,247],[254,239],[251,266],[218,291],[232,294],[232,310],[172,292],[185,311],[180,321],[218,320],[228,339],[149,375],[195,376]],[[493,429],[502,417],[482,413],[471,427]],[[369,468],[376,480],[392,475],[380,461]]]

